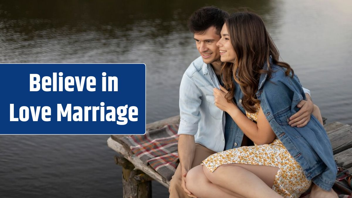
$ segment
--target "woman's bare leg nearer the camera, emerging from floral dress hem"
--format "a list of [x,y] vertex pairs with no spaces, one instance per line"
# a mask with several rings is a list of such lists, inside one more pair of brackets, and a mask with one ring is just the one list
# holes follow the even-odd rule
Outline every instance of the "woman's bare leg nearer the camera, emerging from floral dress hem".
[[277,167],[233,163],[219,166],[213,173],[203,167],[210,182],[247,198],[282,198],[272,190]]

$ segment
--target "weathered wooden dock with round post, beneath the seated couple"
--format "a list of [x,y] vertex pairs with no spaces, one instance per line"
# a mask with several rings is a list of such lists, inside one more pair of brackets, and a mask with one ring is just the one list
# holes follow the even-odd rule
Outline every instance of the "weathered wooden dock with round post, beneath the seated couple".
[[[146,130],[158,129],[166,124],[178,124],[179,122],[180,116],[174,116],[147,124]],[[325,124],[324,128],[329,136],[335,161],[352,172],[352,126],[333,122]],[[151,180],[156,180],[168,188],[170,181],[135,157],[130,148],[120,140],[124,136],[126,135],[112,135],[107,140],[108,146],[119,153],[115,156],[115,163],[122,166],[123,197],[151,198]]]

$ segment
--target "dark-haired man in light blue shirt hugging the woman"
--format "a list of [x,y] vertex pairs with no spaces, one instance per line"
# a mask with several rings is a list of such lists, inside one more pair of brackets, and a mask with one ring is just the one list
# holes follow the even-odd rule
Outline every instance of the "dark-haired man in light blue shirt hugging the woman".
[[[232,118],[214,105],[213,88],[220,89],[222,66],[216,43],[227,16],[228,13],[219,8],[203,7],[194,12],[188,22],[201,57],[190,64],[180,85],[180,165],[170,181],[170,198],[194,197],[186,188],[187,172],[209,155],[251,145]],[[319,112],[310,100],[309,90],[305,92],[309,100],[297,105],[301,109],[290,118],[291,126],[302,127],[308,123],[313,109]],[[320,113],[319,117],[321,119]]]

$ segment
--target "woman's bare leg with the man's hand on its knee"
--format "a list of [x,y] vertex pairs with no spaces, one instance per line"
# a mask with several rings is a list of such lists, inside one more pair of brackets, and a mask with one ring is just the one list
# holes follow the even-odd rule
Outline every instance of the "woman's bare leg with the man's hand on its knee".
[[186,187],[196,197],[201,198],[244,198],[236,193],[221,189],[205,177],[203,166],[199,165],[189,170],[186,176]]

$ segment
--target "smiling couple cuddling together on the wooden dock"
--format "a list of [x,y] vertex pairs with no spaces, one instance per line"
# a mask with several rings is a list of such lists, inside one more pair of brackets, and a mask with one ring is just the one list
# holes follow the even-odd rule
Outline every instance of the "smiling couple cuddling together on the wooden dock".
[[312,182],[310,197],[337,197],[320,111],[262,19],[203,7],[189,28],[201,57],[180,85],[170,197],[299,197]]

